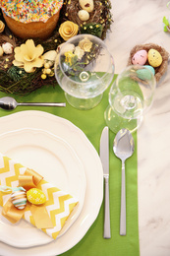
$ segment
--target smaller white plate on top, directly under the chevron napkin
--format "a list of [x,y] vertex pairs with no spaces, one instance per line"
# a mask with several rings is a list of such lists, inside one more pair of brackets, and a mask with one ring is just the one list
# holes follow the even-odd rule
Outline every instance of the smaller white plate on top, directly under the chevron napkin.
[[[76,152],[60,137],[40,129],[28,128],[0,134],[0,152],[36,170],[46,181],[79,200],[58,237],[65,233],[79,217],[85,199],[85,171]],[[6,200],[9,197],[10,195],[6,196]],[[11,224],[1,215],[0,240],[17,247],[30,247],[53,241],[50,236],[26,221]]]

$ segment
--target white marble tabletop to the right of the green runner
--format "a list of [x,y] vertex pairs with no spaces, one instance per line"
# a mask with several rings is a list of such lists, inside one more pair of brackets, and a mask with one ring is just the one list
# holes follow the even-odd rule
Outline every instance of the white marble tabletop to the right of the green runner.
[[[113,1],[112,32],[106,39],[116,73],[136,44],[152,42],[170,53],[170,17],[165,0]],[[157,85],[154,102],[138,131],[139,226],[141,256],[170,255],[170,69]]]

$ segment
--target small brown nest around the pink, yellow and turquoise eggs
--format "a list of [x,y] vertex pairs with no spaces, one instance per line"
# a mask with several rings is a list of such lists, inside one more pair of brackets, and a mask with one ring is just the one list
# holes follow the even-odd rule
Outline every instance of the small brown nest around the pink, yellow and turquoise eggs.
[[[169,58],[169,53],[161,46],[154,43],[136,45],[130,52],[128,66],[133,65],[132,58],[136,52],[138,52],[139,50],[146,50],[148,52],[149,49],[157,50],[162,56],[162,64],[159,67],[154,68],[156,82],[159,82],[159,80],[161,79],[161,77],[164,75],[164,73],[168,68],[168,58]],[[149,65],[148,61],[145,63],[145,65]]]

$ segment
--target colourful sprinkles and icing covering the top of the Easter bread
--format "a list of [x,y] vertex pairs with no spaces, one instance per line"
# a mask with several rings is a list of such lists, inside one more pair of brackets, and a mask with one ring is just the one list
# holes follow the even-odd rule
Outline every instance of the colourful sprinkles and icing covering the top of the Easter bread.
[[63,0],[0,0],[4,13],[22,23],[46,22],[62,5]]

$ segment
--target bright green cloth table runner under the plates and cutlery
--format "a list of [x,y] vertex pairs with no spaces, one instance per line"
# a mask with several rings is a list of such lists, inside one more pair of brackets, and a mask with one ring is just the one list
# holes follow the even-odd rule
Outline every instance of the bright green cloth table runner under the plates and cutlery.
[[[67,102],[66,107],[17,107],[7,111],[0,109],[0,116],[9,115],[22,110],[41,110],[64,117],[81,128],[96,151],[99,153],[99,141],[104,128],[104,111],[108,105],[108,92],[104,93],[101,102],[93,109],[75,109]],[[6,96],[0,93],[0,96]],[[29,96],[15,96],[19,102],[24,101],[66,101],[60,87],[44,87]],[[135,153],[126,160],[127,186],[127,235],[119,235],[120,202],[121,202],[121,160],[117,159],[112,151],[115,134],[110,131],[110,217],[111,239],[103,238],[104,207],[101,206],[96,221],[91,225],[85,237],[72,249],[62,256],[138,256],[139,224],[138,224],[138,161],[137,161],[137,134],[135,139]],[[95,185],[95,184],[94,184]],[[81,228],[81,227],[80,227]]]

